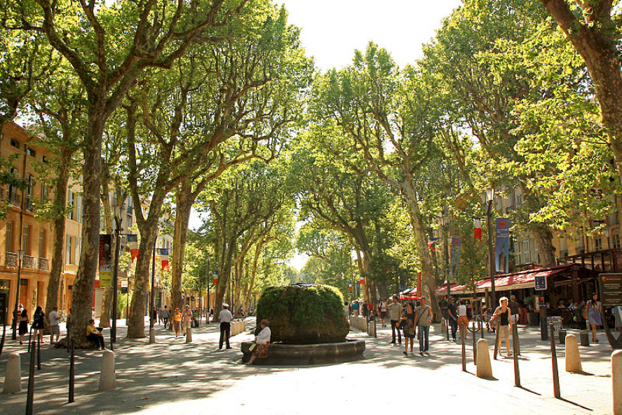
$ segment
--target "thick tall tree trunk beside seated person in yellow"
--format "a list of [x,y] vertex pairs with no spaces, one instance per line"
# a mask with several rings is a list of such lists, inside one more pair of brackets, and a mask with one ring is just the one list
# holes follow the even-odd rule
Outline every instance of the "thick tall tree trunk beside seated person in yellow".
[[93,313],[93,288],[100,247],[102,134],[106,119],[103,107],[103,103],[93,103],[89,108],[83,145],[82,249],[72,287],[72,338],[76,347],[88,346],[86,326]]

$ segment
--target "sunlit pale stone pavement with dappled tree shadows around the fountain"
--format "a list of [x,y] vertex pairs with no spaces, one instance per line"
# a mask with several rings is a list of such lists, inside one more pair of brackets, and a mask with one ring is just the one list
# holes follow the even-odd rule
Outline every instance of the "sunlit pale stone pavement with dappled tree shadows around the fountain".
[[[76,402],[67,404],[69,359],[66,350],[42,347],[42,370],[36,371],[36,414],[333,414],[346,411],[425,410],[461,414],[611,414],[611,350],[600,343],[579,346],[583,370],[564,371],[558,345],[562,400],[553,397],[549,343],[537,329],[519,329],[523,388],[515,388],[513,360],[492,362],[495,380],[477,378],[471,347],[461,371],[460,345],[431,329],[431,355],[405,357],[403,346],[388,344],[390,329],[378,325],[378,338],[365,338],[365,360],[311,367],[248,367],[240,363],[240,344],[250,334],[231,338],[231,350],[218,350],[218,324],[193,331],[193,343],[156,326],[156,344],[147,338],[116,343],[116,390],[98,392],[101,352],[76,351]],[[254,319],[247,319],[247,327]],[[107,329],[104,331],[107,334]],[[492,333],[485,334],[493,343]],[[49,337],[46,336],[49,341]],[[108,341],[108,339],[107,339]],[[471,342],[467,342],[471,345]],[[22,393],[0,396],[0,414],[24,414],[28,363],[26,346],[9,340],[0,357],[4,384],[6,358],[22,354]],[[491,346],[492,358],[492,346]]]

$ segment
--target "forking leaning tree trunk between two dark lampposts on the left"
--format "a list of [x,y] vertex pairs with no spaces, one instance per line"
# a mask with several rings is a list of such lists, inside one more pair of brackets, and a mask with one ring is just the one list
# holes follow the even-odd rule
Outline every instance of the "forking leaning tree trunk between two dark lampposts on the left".
[[[158,206],[151,206],[151,209],[158,209]],[[144,337],[144,315],[147,305],[147,291],[149,291],[149,277],[151,276],[149,265],[151,264],[156,237],[158,237],[157,219],[159,213],[150,210],[149,216],[151,213],[154,213],[154,216],[140,226],[140,251],[136,261],[134,296],[128,316],[128,338]]]

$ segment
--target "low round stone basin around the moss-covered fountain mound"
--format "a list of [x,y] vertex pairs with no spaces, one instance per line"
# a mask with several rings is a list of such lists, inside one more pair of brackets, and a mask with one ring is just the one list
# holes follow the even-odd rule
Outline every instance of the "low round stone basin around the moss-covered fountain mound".
[[[248,362],[252,355],[252,352],[248,350],[250,344],[251,342],[242,343],[243,362]],[[364,340],[319,344],[275,343],[270,345],[268,357],[255,360],[255,364],[301,365],[351,362],[363,359],[364,351]]]

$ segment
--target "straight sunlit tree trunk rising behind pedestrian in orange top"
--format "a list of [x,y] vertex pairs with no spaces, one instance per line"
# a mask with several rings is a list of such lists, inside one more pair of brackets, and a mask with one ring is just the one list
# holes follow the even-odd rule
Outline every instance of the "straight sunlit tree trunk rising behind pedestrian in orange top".
[[186,254],[186,238],[188,235],[188,223],[190,211],[194,204],[195,195],[192,193],[192,183],[184,180],[178,187],[175,200],[175,230],[173,231],[173,259],[171,270],[170,297],[172,309],[182,309],[182,271],[184,270],[184,258]]

